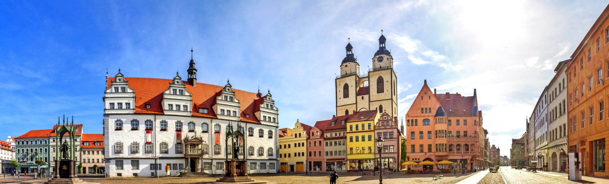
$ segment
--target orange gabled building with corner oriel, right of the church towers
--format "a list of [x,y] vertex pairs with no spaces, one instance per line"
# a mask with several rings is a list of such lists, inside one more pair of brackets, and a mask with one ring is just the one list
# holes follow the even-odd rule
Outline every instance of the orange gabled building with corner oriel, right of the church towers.
[[[471,97],[436,94],[424,82],[406,113],[408,156],[412,162],[440,162],[453,165],[425,165],[412,169],[473,169],[482,166],[484,138],[482,111],[478,111],[476,89]],[[438,168],[434,169],[434,166]]]

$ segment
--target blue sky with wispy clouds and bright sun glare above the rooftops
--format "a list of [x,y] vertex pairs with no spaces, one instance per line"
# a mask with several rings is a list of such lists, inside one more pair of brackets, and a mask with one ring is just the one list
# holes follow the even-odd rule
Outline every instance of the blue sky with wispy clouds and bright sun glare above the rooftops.
[[0,1],[0,138],[74,115],[101,133],[106,68],[270,89],[281,128],[335,114],[347,38],[362,71],[381,29],[398,75],[400,119],[428,80],[439,93],[476,88],[491,144],[507,155],[558,61],[602,1]]

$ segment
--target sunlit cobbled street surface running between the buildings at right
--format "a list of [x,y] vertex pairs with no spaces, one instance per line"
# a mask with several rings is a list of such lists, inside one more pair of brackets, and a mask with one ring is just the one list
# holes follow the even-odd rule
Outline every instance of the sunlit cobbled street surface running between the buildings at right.
[[558,184],[572,184],[572,182],[555,179],[552,177],[547,177],[544,175],[534,174],[532,172],[527,172],[525,169],[518,170],[512,169],[510,167],[504,166],[499,169],[503,178],[507,182],[507,184],[516,184],[516,183],[558,183]]

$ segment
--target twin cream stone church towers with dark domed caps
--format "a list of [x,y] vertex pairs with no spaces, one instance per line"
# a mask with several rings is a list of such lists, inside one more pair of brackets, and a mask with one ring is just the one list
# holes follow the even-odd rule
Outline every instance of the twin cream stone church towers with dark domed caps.
[[343,59],[340,75],[335,80],[336,115],[375,109],[379,113],[387,112],[391,117],[398,115],[398,81],[393,70],[393,57],[387,50],[386,43],[387,39],[381,33],[379,49],[372,57],[372,68],[363,75],[359,73],[353,46],[347,44],[347,56]]

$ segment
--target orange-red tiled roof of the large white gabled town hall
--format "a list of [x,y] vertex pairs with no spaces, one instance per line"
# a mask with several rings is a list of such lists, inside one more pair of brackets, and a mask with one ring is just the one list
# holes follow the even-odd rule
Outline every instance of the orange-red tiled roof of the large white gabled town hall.
[[[108,78],[113,80],[113,78]],[[159,105],[163,100],[163,92],[169,89],[171,79],[160,78],[136,78],[125,77],[129,87],[135,90],[135,112],[144,114],[163,114],[163,108]],[[186,84],[186,91],[192,94],[192,116],[198,117],[216,117],[216,113],[211,108],[216,103],[216,97],[220,95],[220,90],[224,86],[216,86],[212,84],[197,83],[197,86],[192,86],[188,81],[182,81]],[[110,87],[111,82],[108,81],[107,87]],[[242,121],[259,123],[260,121],[254,115],[258,111],[259,105],[262,103],[260,94],[246,92],[244,90],[233,89],[235,97],[241,103],[240,114]],[[150,109],[146,109],[146,105],[150,104]],[[208,109],[208,114],[199,113],[199,108]],[[249,114],[246,117],[245,114]]]

